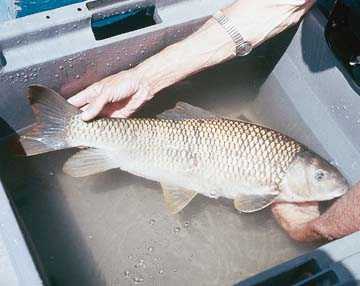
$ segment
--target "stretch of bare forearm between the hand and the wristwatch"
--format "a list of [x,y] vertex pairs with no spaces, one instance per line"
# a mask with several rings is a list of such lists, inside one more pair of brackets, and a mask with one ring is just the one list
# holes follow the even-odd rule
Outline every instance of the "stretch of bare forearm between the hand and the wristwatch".
[[171,45],[136,67],[151,93],[233,56],[235,48],[223,28],[210,19],[187,39]]

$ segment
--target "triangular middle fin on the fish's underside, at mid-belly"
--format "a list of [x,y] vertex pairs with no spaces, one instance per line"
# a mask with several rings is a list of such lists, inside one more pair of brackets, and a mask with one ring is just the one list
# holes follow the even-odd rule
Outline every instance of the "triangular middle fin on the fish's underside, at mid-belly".
[[172,214],[177,214],[185,208],[196,193],[190,190],[161,184],[164,193],[166,207]]

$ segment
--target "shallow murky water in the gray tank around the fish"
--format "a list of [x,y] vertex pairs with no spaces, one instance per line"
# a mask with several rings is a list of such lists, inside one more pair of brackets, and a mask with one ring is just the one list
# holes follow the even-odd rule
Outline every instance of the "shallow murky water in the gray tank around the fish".
[[[141,115],[183,100],[249,116],[269,70],[261,58],[233,61],[164,91]],[[231,285],[314,248],[289,239],[269,209],[244,215],[231,201],[198,196],[172,216],[157,183],[119,170],[71,178],[61,168],[73,152],[1,164],[53,285]]]

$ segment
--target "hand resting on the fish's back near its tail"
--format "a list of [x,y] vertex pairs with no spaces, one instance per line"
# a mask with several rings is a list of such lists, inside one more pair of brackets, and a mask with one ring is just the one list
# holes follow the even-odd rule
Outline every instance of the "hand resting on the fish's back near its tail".
[[153,97],[145,77],[136,69],[122,71],[96,82],[68,99],[81,108],[81,118],[91,120],[99,114],[128,117]]

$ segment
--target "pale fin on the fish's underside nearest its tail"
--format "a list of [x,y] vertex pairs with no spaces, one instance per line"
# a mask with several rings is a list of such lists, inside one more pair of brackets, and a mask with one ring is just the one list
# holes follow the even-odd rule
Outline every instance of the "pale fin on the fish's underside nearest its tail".
[[109,151],[100,149],[85,149],[68,159],[63,171],[72,177],[85,177],[117,168]]

